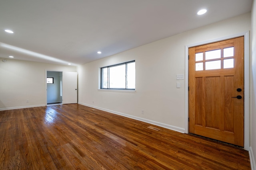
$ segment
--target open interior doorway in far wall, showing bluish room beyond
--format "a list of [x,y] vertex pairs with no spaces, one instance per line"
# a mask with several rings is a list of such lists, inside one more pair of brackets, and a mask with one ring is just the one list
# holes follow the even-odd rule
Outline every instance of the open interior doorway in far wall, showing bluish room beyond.
[[47,105],[62,104],[62,72],[47,71]]

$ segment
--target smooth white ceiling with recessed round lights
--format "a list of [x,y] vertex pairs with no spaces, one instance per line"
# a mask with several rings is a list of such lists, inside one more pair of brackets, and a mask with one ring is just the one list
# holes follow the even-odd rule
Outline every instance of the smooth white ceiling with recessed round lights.
[[[0,0],[0,58],[89,63],[250,12],[251,5],[252,0]],[[198,16],[202,8],[208,12]]]

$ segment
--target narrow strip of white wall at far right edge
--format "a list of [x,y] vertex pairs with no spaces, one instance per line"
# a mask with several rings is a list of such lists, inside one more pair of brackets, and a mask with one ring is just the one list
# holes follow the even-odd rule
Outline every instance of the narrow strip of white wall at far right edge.
[[250,103],[250,146],[254,154],[254,169],[256,169],[256,1],[252,5],[252,59],[251,59],[251,103]]

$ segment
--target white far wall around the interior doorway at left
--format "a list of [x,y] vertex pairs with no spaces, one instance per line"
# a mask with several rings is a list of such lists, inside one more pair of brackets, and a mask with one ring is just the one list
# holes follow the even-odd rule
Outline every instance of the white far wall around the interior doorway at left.
[[45,106],[46,70],[76,71],[75,66],[6,60],[0,59],[0,109]]

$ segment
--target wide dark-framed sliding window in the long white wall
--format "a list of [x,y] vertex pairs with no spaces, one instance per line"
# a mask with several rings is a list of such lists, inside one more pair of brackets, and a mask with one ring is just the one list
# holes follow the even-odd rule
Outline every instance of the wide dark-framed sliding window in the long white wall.
[[135,90],[135,61],[102,67],[101,89]]

